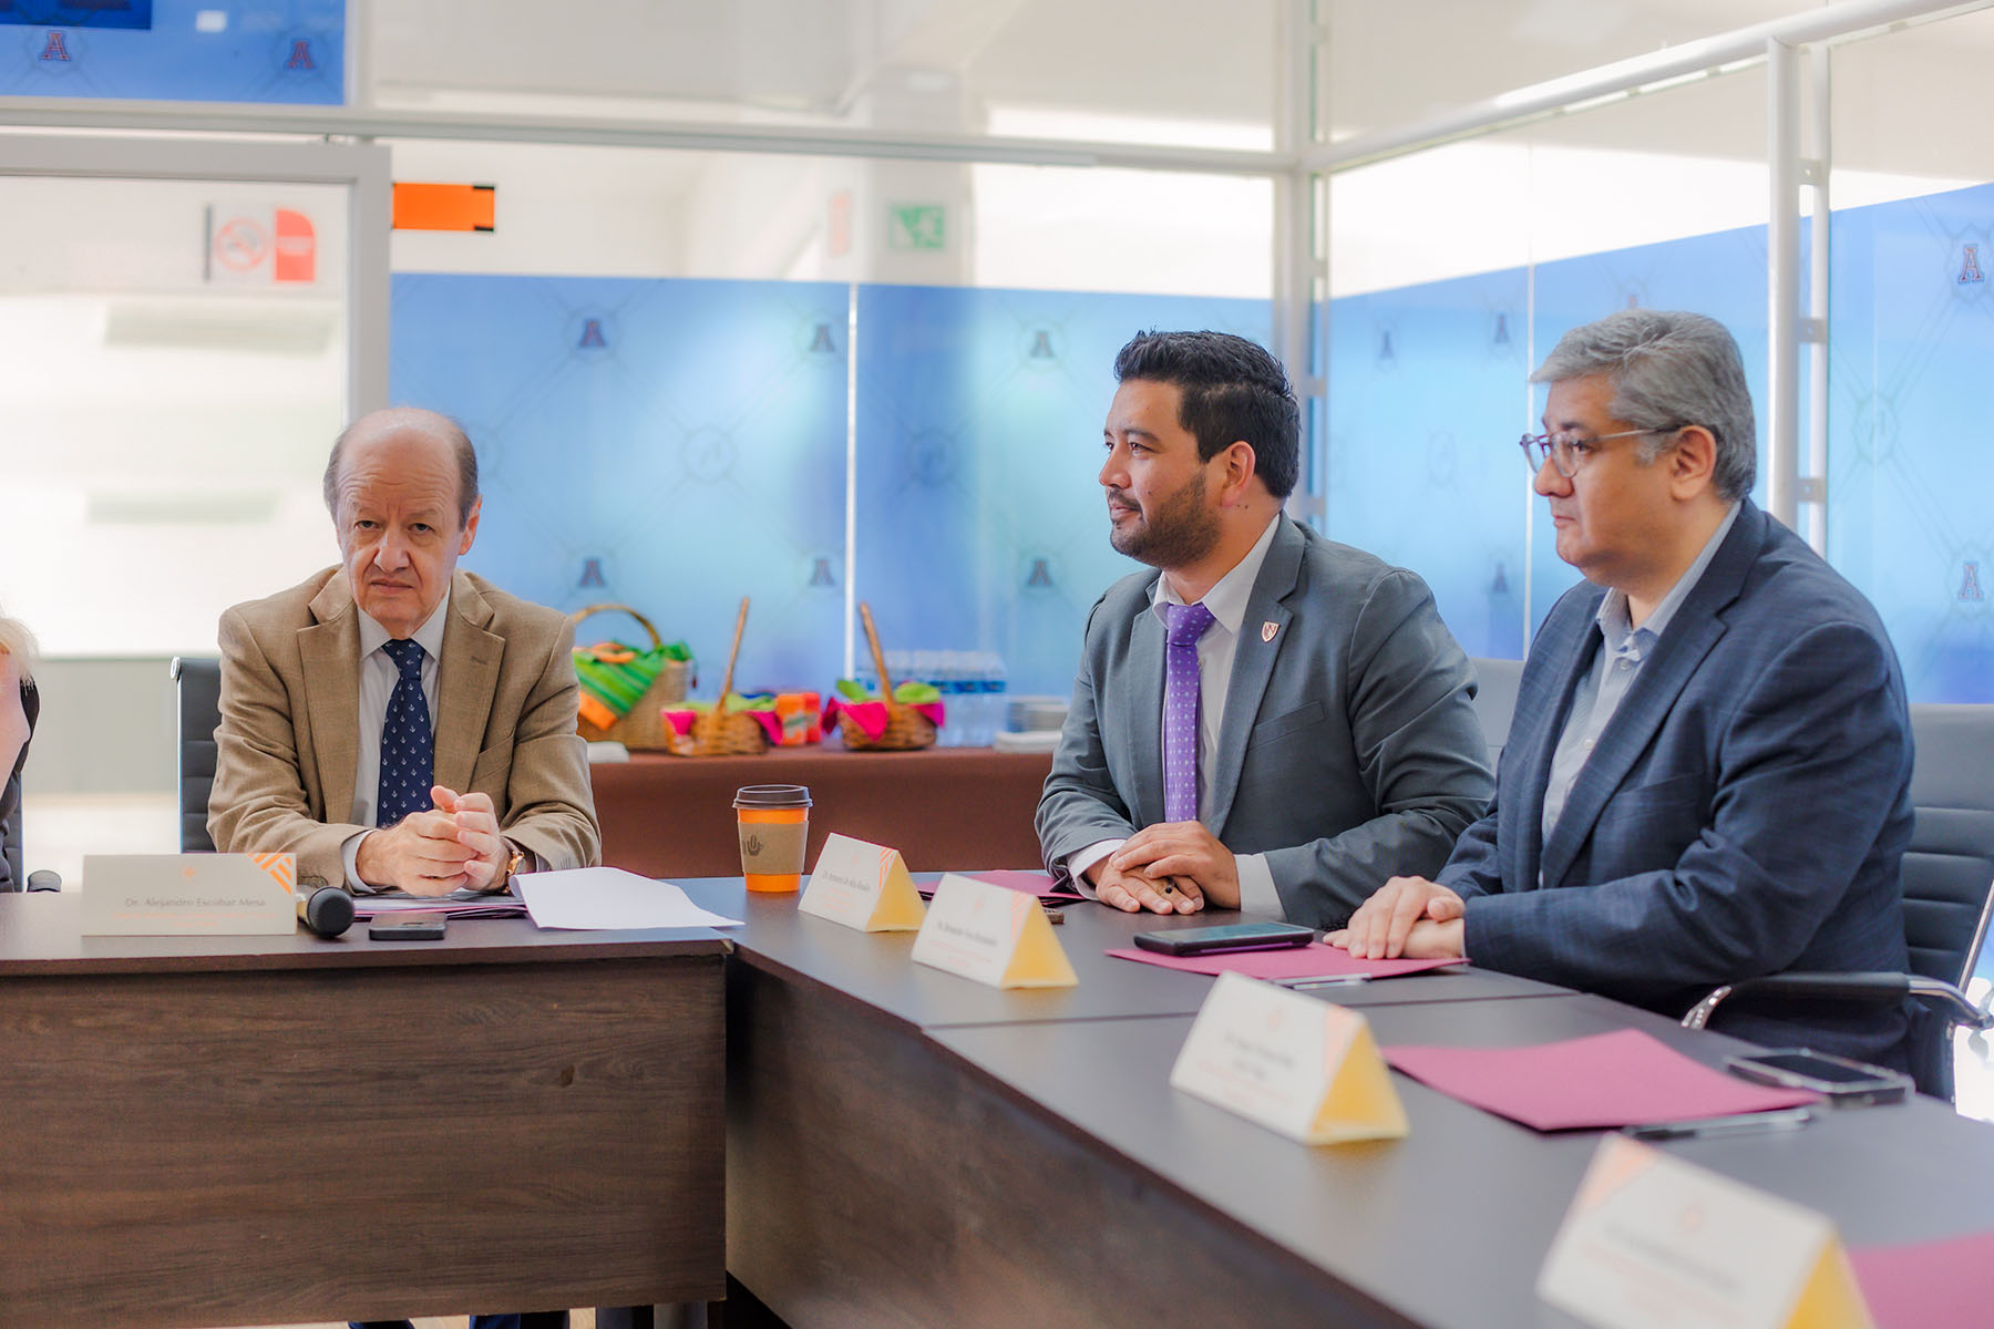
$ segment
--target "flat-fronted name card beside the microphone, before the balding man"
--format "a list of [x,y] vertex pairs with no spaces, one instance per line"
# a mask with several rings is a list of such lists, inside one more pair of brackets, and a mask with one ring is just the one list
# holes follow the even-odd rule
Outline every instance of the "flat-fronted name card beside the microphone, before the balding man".
[[287,853],[84,857],[84,936],[285,936],[297,930]]

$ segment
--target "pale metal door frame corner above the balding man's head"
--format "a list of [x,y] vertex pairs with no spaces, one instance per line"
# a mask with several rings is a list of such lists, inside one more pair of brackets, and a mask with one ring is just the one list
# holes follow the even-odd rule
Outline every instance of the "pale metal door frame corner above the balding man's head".
[[347,418],[387,404],[387,147],[0,133],[0,175],[347,185]]

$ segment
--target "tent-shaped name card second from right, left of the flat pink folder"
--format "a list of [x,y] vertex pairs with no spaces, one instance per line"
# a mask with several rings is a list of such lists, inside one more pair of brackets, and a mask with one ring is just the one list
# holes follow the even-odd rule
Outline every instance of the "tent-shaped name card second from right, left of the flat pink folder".
[[1406,1134],[1406,1108],[1364,1016],[1244,974],[1218,974],[1170,1088],[1302,1144]]

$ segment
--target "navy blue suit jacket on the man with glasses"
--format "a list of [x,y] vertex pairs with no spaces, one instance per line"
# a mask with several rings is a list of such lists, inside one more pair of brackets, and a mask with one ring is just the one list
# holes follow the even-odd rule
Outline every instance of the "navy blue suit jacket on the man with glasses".
[[[1545,618],[1496,805],[1438,877],[1470,960],[1671,1016],[1735,978],[1902,970],[1910,717],[1868,600],[1745,500],[1543,843],[1603,598],[1579,584]],[[1898,1006],[1721,1006],[1713,1028],[1904,1064]]]

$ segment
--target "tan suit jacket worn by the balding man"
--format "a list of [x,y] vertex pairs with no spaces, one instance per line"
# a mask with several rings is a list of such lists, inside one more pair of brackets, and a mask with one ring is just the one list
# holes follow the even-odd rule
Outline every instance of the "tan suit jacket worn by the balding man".
[[[221,727],[207,831],[223,853],[295,853],[345,881],[359,779],[359,608],[327,568],[221,616]],[[550,869],[602,859],[588,747],[574,733],[574,630],[459,570],[437,662],[439,785],[489,793],[506,839]]]

